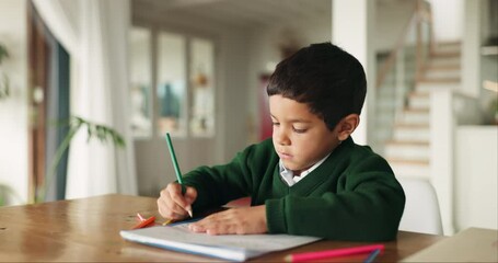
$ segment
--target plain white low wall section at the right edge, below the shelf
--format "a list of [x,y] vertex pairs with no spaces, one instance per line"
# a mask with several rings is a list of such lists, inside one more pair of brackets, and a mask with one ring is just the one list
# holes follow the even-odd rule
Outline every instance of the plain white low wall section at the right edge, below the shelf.
[[498,229],[498,126],[460,126],[455,141],[456,230]]

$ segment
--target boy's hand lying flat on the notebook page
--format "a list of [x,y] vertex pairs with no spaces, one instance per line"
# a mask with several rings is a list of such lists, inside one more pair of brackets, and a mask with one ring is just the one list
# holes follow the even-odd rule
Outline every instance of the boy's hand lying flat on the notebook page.
[[265,233],[268,231],[266,207],[260,205],[231,208],[193,222],[188,228],[194,232],[206,232],[208,235]]

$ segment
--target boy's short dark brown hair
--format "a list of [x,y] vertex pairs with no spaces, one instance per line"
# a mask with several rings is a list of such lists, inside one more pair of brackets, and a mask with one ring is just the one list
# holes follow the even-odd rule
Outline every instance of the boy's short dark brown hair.
[[332,130],[348,114],[361,113],[367,79],[358,59],[327,42],[303,47],[279,62],[266,90],[269,96],[306,103]]

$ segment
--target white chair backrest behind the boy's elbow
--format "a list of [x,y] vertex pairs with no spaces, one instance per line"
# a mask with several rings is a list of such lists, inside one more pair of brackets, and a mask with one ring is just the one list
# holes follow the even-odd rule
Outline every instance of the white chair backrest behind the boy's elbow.
[[442,235],[438,196],[429,181],[398,179],[406,195],[399,230]]

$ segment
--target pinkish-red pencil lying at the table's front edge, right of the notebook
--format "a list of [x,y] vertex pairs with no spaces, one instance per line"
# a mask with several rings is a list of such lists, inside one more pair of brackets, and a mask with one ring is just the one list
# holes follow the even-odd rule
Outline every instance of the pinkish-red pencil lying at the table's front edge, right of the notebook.
[[355,248],[346,248],[346,249],[335,249],[335,250],[325,250],[325,251],[317,251],[317,252],[306,252],[300,254],[290,254],[286,256],[287,262],[309,262],[313,260],[323,260],[329,258],[337,258],[344,255],[352,255],[352,254],[362,254],[369,253],[374,250],[380,250],[381,252],[384,251],[383,244],[369,244],[369,245],[361,245]]

